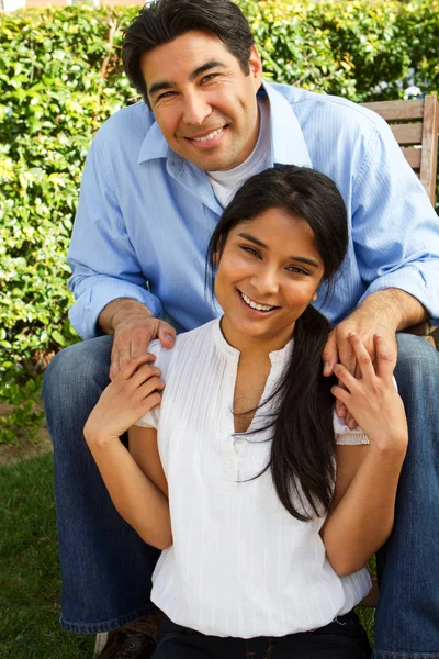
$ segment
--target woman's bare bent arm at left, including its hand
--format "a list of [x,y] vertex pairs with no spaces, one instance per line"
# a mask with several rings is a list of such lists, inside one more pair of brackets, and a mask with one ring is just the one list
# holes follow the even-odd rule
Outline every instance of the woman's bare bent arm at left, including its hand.
[[142,455],[146,456],[140,466],[120,440],[161,400],[160,371],[144,364],[146,359],[143,356],[131,361],[102,392],[83,434],[119,513],[145,543],[166,549],[172,544],[172,534],[157,433],[135,428],[136,443],[142,442]]

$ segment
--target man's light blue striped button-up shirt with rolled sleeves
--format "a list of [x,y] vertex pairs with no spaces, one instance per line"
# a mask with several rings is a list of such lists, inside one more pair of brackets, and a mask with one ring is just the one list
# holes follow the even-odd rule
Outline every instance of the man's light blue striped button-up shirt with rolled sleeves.
[[[439,221],[385,122],[335,97],[267,83],[262,93],[271,163],[323,171],[347,205],[348,257],[316,306],[337,323],[369,293],[398,288],[439,319]],[[87,157],[68,255],[80,336],[97,335],[100,312],[116,298],[142,302],[179,331],[219,315],[204,275],[221,213],[206,174],[169,148],[145,103],[109,119]]]

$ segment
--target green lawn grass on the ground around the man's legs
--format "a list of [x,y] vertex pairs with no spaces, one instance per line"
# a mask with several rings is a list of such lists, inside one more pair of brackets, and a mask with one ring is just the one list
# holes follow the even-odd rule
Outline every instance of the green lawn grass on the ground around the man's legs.
[[[52,455],[0,469],[0,657],[91,659],[93,637],[59,625]],[[369,637],[373,610],[359,608]]]

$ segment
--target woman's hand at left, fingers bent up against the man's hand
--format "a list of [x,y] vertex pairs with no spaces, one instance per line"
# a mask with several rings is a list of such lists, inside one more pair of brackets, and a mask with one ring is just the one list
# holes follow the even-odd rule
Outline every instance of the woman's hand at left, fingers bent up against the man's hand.
[[144,354],[128,364],[104,389],[83,428],[88,444],[119,438],[144,414],[161,402],[161,371]]

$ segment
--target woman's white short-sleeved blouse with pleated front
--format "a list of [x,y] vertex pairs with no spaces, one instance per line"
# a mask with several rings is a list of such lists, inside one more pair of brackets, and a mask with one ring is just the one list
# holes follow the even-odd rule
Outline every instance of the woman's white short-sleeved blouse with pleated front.
[[[270,396],[292,342],[270,354],[262,394]],[[340,578],[326,558],[325,517],[295,520],[280,503],[268,463],[268,432],[258,410],[247,433],[234,432],[239,351],[215,320],[150,345],[166,388],[160,407],[137,425],[158,431],[169,487],[171,547],[153,576],[153,602],[175,623],[214,636],[285,636],[327,625],[369,592],[365,569]],[[335,416],[339,444],[365,444]]]

